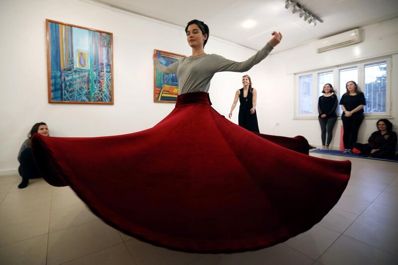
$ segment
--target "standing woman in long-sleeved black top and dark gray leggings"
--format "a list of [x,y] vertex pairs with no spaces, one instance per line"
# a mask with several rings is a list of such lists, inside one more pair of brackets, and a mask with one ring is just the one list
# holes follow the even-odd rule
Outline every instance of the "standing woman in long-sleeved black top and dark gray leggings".
[[332,141],[334,124],[337,120],[336,108],[338,99],[331,84],[325,84],[322,93],[323,95],[318,99],[318,120],[322,132],[322,149],[329,149],[329,144]]

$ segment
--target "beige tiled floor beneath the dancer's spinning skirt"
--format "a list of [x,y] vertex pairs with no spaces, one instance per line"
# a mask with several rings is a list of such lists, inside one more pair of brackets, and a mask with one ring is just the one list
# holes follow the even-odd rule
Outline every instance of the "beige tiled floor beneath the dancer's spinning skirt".
[[0,177],[0,264],[398,264],[398,163],[350,160],[349,185],[319,224],[285,243],[228,255],[143,243],[103,223],[69,187],[32,179],[18,189],[20,177]]

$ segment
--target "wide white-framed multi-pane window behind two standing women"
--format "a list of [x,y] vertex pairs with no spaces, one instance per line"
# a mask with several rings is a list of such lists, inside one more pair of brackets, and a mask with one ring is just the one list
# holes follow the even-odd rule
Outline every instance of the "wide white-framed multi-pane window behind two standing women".
[[[347,91],[348,81],[355,81],[364,93],[366,116],[389,116],[391,97],[391,59],[373,60],[335,66],[320,71],[314,70],[296,74],[296,111],[295,117],[317,117],[318,97],[323,86],[331,84],[338,98]],[[341,114],[341,107],[337,107]]]

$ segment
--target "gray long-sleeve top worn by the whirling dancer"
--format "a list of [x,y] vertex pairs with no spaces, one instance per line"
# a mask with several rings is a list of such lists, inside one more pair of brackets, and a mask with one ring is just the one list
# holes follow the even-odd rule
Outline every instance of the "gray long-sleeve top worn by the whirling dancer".
[[246,72],[260,63],[274,49],[267,43],[260,51],[244,62],[235,62],[217,54],[203,54],[184,57],[168,67],[155,61],[154,65],[163,74],[177,74],[180,94],[188,92],[208,92],[211,78],[217,72]]

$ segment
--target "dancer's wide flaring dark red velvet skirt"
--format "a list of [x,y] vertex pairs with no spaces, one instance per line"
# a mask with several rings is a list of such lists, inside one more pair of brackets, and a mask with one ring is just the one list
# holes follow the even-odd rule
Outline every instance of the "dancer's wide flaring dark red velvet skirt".
[[269,247],[310,229],[337,203],[349,161],[309,157],[302,137],[256,135],[210,104],[205,92],[179,95],[156,126],[126,135],[35,134],[34,158],[47,182],[70,185],[109,225],[185,252]]

